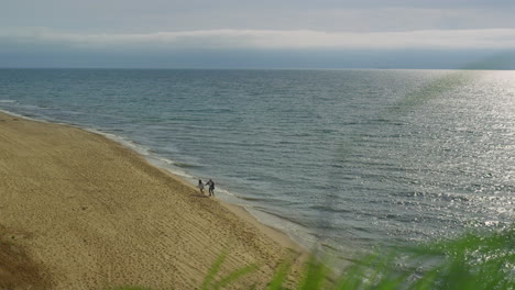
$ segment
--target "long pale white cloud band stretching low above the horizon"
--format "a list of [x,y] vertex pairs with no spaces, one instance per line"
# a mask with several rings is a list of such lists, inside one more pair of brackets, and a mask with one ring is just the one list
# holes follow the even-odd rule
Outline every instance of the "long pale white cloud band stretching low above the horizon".
[[[513,49],[515,29],[413,32],[199,30],[144,34],[74,34],[48,29],[2,29],[1,45],[68,49]],[[1,48],[0,48],[1,49]]]

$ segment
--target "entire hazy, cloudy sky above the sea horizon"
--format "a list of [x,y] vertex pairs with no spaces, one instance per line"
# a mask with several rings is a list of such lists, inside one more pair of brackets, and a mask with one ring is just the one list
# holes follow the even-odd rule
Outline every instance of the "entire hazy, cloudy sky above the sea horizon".
[[515,69],[514,0],[0,1],[0,67]]

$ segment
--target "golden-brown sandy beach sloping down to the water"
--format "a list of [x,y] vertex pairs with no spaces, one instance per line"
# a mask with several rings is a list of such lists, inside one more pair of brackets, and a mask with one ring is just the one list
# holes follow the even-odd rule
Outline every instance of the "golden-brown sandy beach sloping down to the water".
[[102,135],[4,113],[0,244],[0,257],[24,253],[35,289],[196,289],[223,250],[221,275],[259,266],[228,289],[261,289],[282,259],[303,253],[244,209],[201,196]]

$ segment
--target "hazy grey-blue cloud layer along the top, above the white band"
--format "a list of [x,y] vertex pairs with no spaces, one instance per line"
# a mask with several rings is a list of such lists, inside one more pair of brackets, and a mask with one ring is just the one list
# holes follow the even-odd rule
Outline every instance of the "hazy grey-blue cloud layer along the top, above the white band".
[[515,1],[484,0],[17,0],[0,27],[74,33],[198,30],[419,31],[515,29]]

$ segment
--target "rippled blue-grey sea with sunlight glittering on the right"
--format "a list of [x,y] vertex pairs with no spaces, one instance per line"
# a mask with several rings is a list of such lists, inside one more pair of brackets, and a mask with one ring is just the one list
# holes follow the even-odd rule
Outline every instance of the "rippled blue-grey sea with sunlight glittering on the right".
[[0,109],[212,178],[306,247],[514,221],[514,71],[0,69]]

